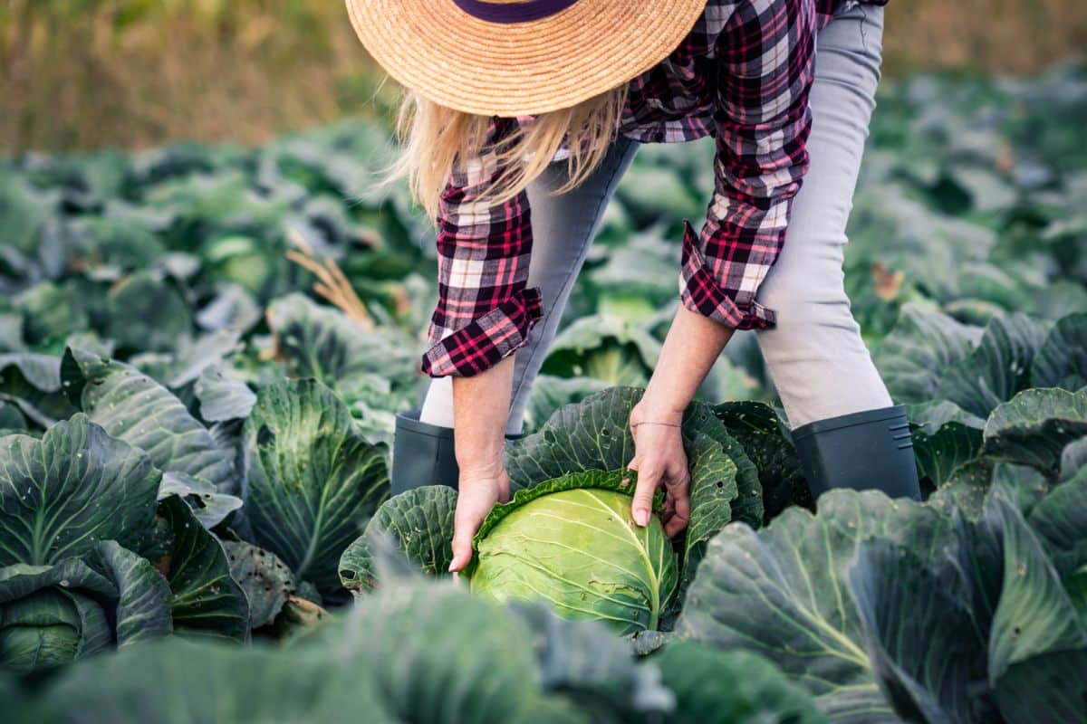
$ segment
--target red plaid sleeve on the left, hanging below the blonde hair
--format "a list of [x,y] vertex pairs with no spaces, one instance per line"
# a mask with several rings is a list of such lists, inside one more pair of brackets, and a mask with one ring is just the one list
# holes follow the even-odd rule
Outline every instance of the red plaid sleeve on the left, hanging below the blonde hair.
[[458,160],[438,213],[438,304],[430,317],[423,371],[471,377],[528,341],[540,318],[538,288],[528,289],[533,234],[528,195],[504,204],[478,196],[499,178],[495,142],[514,119],[495,116],[479,156]]

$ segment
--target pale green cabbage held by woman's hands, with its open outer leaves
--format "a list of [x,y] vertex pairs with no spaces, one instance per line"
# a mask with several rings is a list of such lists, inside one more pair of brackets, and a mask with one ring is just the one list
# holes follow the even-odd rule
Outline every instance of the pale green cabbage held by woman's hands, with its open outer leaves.
[[[729,520],[762,521],[759,471],[714,410],[699,403],[683,423],[691,477],[686,532],[670,541],[655,517],[645,529],[634,523],[627,423],[641,394],[635,388],[591,394],[507,446],[514,497],[491,511],[476,536],[466,572],[474,590],[498,600],[545,600],[565,618],[600,620],[624,633],[666,631],[707,542]],[[382,584],[373,557],[386,534],[411,568],[446,574],[455,508],[457,493],[440,486],[386,500],[343,551],[340,582],[360,595]]]

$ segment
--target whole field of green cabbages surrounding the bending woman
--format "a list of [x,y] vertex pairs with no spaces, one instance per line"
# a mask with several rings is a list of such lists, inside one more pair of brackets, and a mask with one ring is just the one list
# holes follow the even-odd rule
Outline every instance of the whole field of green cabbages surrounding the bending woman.
[[622,468],[713,147],[642,147],[457,582],[457,493],[388,492],[388,129],[0,161],[3,721],[1087,722],[1085,120],[1087,66],[885,85],[847,283],[925,501],[815,512],[744,332],[675,541]]

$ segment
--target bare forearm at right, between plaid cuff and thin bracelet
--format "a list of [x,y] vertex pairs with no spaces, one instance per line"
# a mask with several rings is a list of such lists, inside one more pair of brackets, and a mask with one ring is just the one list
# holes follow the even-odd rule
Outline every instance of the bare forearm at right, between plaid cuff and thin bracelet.
[[680,305],[641,401],[647,420],[676,420],[736,330]]

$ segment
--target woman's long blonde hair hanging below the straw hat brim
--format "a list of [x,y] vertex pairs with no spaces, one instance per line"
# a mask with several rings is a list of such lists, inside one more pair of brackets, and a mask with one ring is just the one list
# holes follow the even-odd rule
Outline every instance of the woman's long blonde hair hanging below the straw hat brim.
[[[495,154],[502,173],[474,201],[497,206],[544,173],[569,135],[571,140],[582,139],[583,142],[570,143],[569,180],[552,195],[565,193],[603,160],[619,132],[627,90],[628,85],[622,84],[576,105],[537,114],[526,124],[527,128],[512,124],[512,132],[487,149],[484,142],[492,116],[455,111],[405,91],[396,120],[401,150],[392,164],[378,172],[385,177],[377,186],[407,177],[412,198],[426,211],[432,224],[436,224],[441,193],[450,174],[461,168],[461,160],[474,158],[484,152]],[[528,154],[532,155],[522,163]]]

